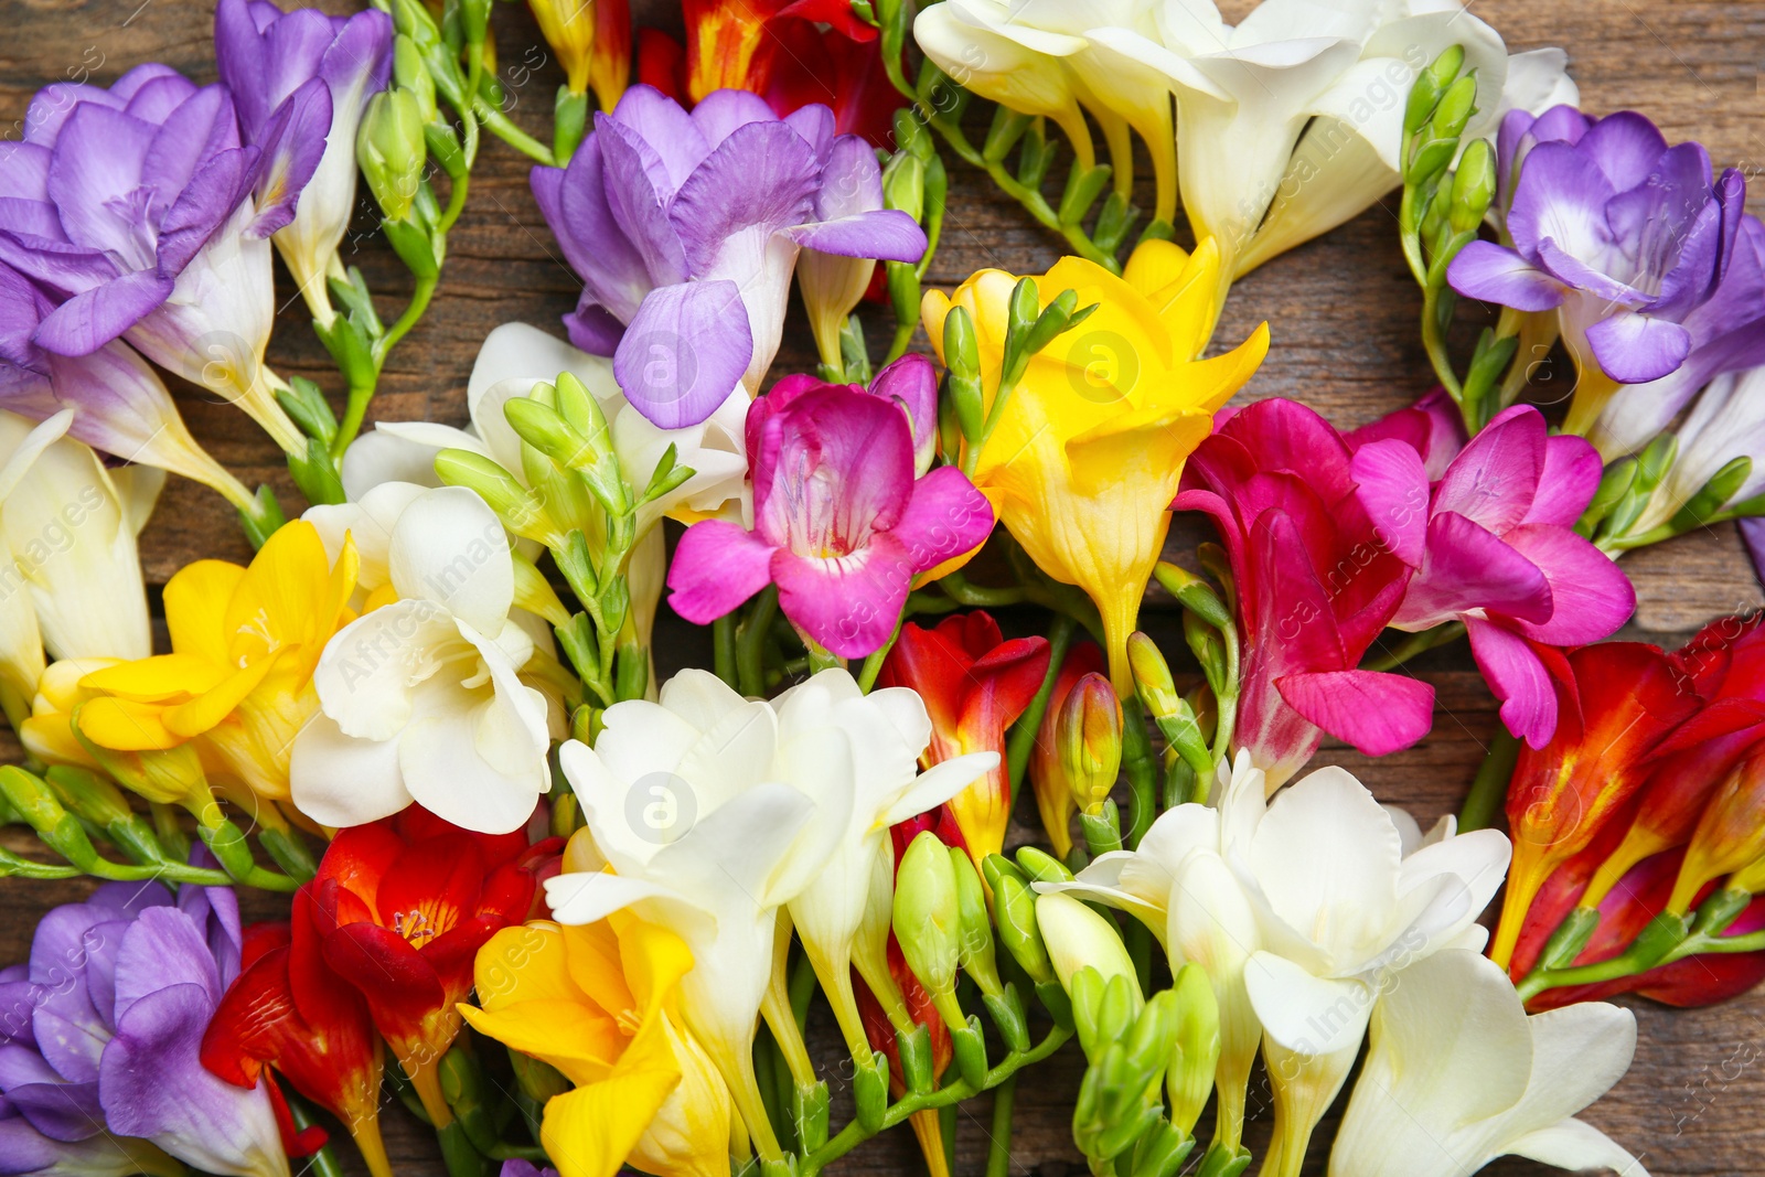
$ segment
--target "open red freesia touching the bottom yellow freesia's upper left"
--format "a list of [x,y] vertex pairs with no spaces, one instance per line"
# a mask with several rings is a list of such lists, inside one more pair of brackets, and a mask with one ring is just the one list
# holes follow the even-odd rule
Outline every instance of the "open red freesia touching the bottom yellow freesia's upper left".
[[454,1119],[439,1068],[459,1034],[473,958],[526,919],[538,859],[558,849],[530,847],[519,831],[471,833],[411,806],[339,831],[307,884],[325,963],[362,993],[436,1128]]

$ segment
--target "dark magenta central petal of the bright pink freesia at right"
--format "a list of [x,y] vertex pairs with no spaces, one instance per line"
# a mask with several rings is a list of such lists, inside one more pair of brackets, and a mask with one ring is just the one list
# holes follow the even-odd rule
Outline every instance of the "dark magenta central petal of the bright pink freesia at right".
[[1486,609],[1523,621],[1551,616],[1551,589],[1525,556],[1470,519],[1428,521],[1428,552],[1393,625],[1407,630]]

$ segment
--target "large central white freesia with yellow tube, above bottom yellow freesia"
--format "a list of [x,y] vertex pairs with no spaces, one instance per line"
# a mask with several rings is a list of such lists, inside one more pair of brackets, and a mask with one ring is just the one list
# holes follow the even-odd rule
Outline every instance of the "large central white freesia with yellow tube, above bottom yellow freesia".
[[[844,671],[822,671],[810,686],[858,693]],[[660,702],[607,708],[593,748],[570,741],[560,753],[586,828],[572,840],[577,868],[545,882],[560,923],[630,909],[687,942],[694,967],[680,983],[681,1018],[762,1159],[782,1156],[752,1055],[778,909],[847,842],[863,757],[902,739],[886,713],[807,702],[814,695],[796,706],[747,701],[713,674],[683,671]],[[916,748],[900,752],[911,761]]]

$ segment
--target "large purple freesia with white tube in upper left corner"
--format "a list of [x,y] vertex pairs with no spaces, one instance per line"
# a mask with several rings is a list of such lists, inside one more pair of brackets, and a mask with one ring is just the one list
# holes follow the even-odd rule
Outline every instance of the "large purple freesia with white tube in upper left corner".
[[[261,157],[279,159],[281,136],[270,129],[242,146],[228,92],[166,65],[138,65],[109,90],[42,88],[25,139],[0,150],[9,176],[0,261],[64,300],[34,342],[83,356],[125,335],[161,367],[237,402],[289,454],[305,454],[263,367],[275,311],[267,238],[288,222],[300,187],[288,173],[263,208],[251,189]],[[78,164],[92,157],[115,166]]]

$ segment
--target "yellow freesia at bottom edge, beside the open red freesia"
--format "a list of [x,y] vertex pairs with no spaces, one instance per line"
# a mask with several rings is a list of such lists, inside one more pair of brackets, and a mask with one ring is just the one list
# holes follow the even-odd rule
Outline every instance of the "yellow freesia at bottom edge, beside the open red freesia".
[[475,1031],[558,1068],[540,1145],[560,1177],[729,1175],[729,1092],[676,1016],[685,941],[625,912],[503,928],[478,949]]

